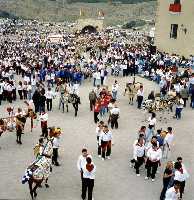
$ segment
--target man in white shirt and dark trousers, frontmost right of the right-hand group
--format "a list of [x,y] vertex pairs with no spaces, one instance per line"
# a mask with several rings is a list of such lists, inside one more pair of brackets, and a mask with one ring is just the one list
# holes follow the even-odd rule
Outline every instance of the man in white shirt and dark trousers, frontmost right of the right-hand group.
[[147,152],[147,176],[145,179],[147,180],[151,177],[152,181],[155,181],[155,175],[158,169],[158,165],[160,164],[160,160],[162,158],[162,151],[157,146],[157,143],[152,143],[152,147]]

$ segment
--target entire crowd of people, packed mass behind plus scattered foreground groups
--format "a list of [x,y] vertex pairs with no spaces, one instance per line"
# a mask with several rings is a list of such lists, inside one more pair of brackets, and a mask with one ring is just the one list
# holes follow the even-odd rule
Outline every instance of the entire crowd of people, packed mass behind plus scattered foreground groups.
[[[63,41],[52,43],[41,38],[40,32],[24,32],[18,28],[17,21],[12,28],[17,32],[11,32],[10,26],[4,24],[1,28],[0,41],[0,105],[2,101],[10,105],[14,101],[25,100],[28,109],[33,110],[30,115],[33,128],[33,119],[41,121],[42,134],[38,146],[42,149],[43,138],[48,138],[48,116],[53,107],[53,101],[58,100],[58,109],[69,112],[71,103],[78,115],[80,100],[79,88],[89,80],[93,89],[89,92],[89,109],[94,113],[94,122],[98,124],[97,155],[105,159],[111,157],[113,135],[109,130],[118,129],[119,90],[118,76],[134,77],[139,75],[159,85],[160,101],[173,99],[175,106],[174,118],[181,119],[182,110],[187,106],[190,98],[190,106],[194,108],[194,57],[189,59],[178,55],[169,55],[162,52],[152,52],[149,42],[142,36],[139,43],[126,42],[130,37],[119,31],[105,30],[101,33],[86,35],[72,35],[65,30]],[[25,25],[22,27],[25,29]],[[10,37],[5,36],[5,33]],[[82,50],[82,51],[81,51]],[[110,86],[107,79],[113,76],[115,81]],[[158,97],[151,90],[148,98],[144,94],[144,85],[129,81],[125,94],[128,93],[129,104],[133,106],[137,100],[137,108],[142,109],[143,102],[148,99],[155,102]],[[173,106],[171,107],[171,110]],[[156,110],[155,110],[156,111]],[[22,117],[22,109],[13,117]],[[36,117],[35,117],[36,114]],[[39,116],[37,116],[39,114]],[[19,116],[19,117],[18,117]],[[162,159],[170,158],[171,145],[174,138],[173,128],[167,131],[157,130],[156,112],[151,112],[148,126],[142,126],[138,132],[137,140],[133,144],[133,159],[131,160],[137,176],[140,176],[140,167],[145,163],[146,177],[155,180],[158,166]],[[21,120],[19,120],[21,122]],[[21,135],[24,127],[16,124],[17,143],[22,144]],[[42,138],[43,137],[43,138]],[[52,163],[59,166],[58,148],[59,138],[53,142]],[[42,153],[36,153],[36,156]],[[82,150],[82,155],[77,162],[81,173],[82,199],[92,200],[92,191],[96,165],[87,149]],[[185,181],[189,177],[182,163],[182,158],[177,161],[168,161],[163,176],[163,189],[160,200],[182,199]]]

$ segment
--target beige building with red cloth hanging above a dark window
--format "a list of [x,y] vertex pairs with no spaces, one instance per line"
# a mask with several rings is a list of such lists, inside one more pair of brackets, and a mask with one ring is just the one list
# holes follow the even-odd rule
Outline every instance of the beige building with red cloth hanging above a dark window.
[[194,0],[158,0],[155,45],[167,53],[194,55]]

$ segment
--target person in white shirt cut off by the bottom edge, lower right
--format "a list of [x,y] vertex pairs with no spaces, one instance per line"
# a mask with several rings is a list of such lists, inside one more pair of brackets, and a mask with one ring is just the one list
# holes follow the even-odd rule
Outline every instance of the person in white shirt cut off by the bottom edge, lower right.
[[166,191],[165,200],[179,200],[180,196],[180,184],[178,181],[174,181],[174,186]]

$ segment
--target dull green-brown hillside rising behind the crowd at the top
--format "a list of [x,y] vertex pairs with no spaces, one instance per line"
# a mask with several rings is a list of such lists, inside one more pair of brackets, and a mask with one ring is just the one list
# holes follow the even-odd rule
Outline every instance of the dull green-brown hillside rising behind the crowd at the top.
[[[153,19],[156,2],[149,1],[137,4],[126,2],[140,2],[142,0],[122,0],[110,5],[109,0],[0,0],[0,14],[22,17],[25,19],[39,19],[43,21],[74,21],[79,17],[80,8],[85,17],[97,17],[98,10],[105,13],[107,25],[123,24],[132,19]],[[103,2],[106,1],[106,2]],[[144,0],[146,1],[146,0]],[[96,1],[95,1],[96,2]]]

